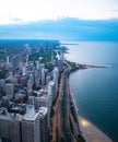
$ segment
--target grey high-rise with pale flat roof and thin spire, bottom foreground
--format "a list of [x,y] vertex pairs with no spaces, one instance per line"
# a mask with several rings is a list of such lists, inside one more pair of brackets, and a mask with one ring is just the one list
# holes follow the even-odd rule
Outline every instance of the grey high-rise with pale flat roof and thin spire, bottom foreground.
[[22,142],[40,142],[39,133],[39,111],[35,111],[34,105],[27,106],[22,119]]

